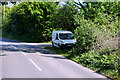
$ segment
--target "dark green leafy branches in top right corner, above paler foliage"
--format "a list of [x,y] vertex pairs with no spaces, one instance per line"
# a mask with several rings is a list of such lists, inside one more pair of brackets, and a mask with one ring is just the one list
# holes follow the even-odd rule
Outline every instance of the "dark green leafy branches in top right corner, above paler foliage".
[[83,2],[83,4],[75,2],[75,5],[85,15],[85,19],[91,19],[93,21],[95,21],[95,18],[98,18],[100,21],[100,16],[104,15],[102,13],[113,17],[118,15],[118,2]]

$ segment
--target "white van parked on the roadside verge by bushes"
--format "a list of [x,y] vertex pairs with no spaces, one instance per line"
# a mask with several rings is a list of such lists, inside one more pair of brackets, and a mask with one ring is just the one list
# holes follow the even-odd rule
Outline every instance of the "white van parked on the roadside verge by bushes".
[[52,32],[52,46],[64,47],[73,46],[76,39],[72,37],[73,33],[70,31],[53,31]]

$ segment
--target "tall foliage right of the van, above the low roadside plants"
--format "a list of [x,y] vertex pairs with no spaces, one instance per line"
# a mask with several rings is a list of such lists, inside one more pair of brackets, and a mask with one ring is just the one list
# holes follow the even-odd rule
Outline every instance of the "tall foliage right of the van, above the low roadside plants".
[[[108,6],[114,5],[114,7],[118,8],[118,3],[85,2],[84,4],[84,6],[81,3],[78,4],[81,6],[79,8],[80,12],[74,16],[75,25],[77,25],[74,32],[78,42],[76,47],[73,48],[73,52],[78,54],[92,48],[117,48],[118,11],[114,12],[114,10],[108,9]],[[88,41],[89,44],[87,44]]]

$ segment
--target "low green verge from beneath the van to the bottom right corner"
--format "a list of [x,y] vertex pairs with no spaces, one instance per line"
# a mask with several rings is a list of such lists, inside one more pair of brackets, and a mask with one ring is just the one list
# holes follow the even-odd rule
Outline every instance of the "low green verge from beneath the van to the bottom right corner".
[[59,49],[52,46],[45,47],[45,49],[60,54],[110,79],[120,80],[119,65],[117,62],[118,59],[120,60],[120,55],[115,50],[110,50],[110,52],[107,50],[89,51],[81,55],[75,55],[71,53],[70,49]]

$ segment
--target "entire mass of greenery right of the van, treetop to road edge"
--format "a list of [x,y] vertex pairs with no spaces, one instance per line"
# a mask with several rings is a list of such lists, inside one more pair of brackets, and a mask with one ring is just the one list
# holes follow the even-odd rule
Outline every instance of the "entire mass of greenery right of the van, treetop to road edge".
[[120,54],[117,52],[118,3],[85,4],[84,8],[79,8],[80,12],[74,15],[74,25],[77,27],[74,30],[74,37],[77,39],[75,47],[65,53],[58,49],[48,49],[58,54],[60,51],[69,59],[118,79],[120,74],[118,64]]

